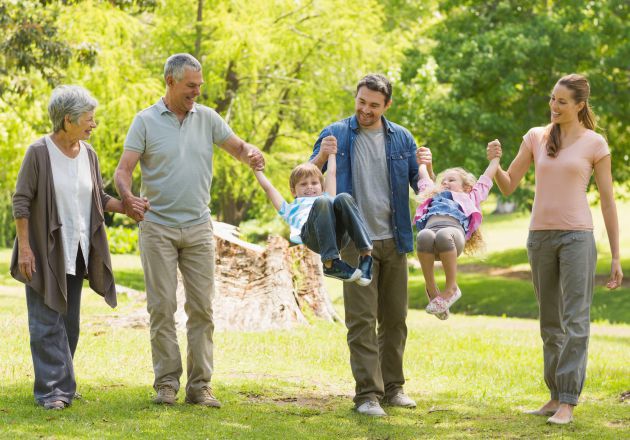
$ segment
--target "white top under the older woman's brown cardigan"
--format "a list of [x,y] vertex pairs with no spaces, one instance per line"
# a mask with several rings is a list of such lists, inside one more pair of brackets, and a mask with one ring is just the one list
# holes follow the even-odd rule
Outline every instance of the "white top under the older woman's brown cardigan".
[[85,267],[90,249],[90,213],[92,211],[92,176],[87,147],[81,148],[75,158],[70,158],[46,136],[48,155],[53,173],[55,201],[61,221],[63,255],[66,273],[76,275],[77,251],[81,245]]

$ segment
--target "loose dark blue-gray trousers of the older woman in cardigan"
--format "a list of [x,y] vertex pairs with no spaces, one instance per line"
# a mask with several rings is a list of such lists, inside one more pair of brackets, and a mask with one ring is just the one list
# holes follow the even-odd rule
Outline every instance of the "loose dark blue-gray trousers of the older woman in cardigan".
[[33,392],[40,405],[55,400],[70,404],[76,393],[72,359],[79,342],[84,273],[85,263],[79,249],[76,275],[66,275],[68,309],[65,315],[48,307],[43,295],[26,286],[28,331],[35,372]]

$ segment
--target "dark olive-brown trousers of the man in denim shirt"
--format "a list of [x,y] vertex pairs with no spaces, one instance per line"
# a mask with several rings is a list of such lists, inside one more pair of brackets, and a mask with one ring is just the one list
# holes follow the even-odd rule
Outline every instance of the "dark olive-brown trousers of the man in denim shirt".
[[[377,401],[402,391],[407,341],[407,255],[394,239],[375,240],[372,282],[343,283],[350,367],[356,383],[354,402]],[[355,264],[359,252],[348,244],[341,257]]]

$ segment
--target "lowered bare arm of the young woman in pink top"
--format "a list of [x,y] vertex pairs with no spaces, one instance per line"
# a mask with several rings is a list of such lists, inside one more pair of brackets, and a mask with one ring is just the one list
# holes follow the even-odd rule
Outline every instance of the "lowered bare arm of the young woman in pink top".
[[612,172],[610,155],[603,157],[595,164],[595,183],[599,190],[602,205],[602,216],[608,234],[610,254],[612,256],[610,267],[610,279],[606,283],[609,289],[621,286],[623,272],[621,270],[621,256],[619,254],[619,220],[617,217],[617,205],[612,184]]

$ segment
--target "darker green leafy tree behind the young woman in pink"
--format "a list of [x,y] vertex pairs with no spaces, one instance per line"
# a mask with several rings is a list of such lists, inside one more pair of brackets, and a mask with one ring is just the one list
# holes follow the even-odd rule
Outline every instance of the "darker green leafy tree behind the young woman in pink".
[[[581,72],[590,78],[592,104],[607,129],[615,178],[627,182],[628,9],[617,0],[441,3],[443,19],[430,33],[435,46],[408,52],[402,69],[419,67],[405,78],[409,102],[424,109],[410,122],[434,147],[437,168],[480,172],[484,147],[495,137],[509,163],[526,130],[548,123],[555,81]],[[520,198],[528,206],[531,192]]]

